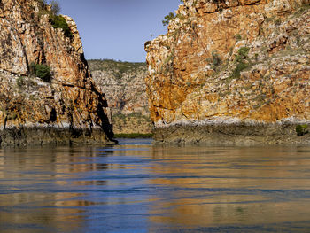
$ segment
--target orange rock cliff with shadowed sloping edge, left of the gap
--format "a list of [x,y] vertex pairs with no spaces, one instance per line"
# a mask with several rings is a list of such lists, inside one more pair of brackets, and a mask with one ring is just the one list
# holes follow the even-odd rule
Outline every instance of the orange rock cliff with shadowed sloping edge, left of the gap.
[[73,19],[40,0],[1,0],[0,44],[0,145],[110,142]]

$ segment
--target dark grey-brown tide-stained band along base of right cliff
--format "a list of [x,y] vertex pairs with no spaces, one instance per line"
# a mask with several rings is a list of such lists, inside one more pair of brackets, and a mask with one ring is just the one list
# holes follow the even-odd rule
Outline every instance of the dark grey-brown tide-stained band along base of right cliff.
[[298,136],[298,124],[285,123],[210,123],[181,124],[158,127],[154,131],[154,144],[310,144],[310,134]]

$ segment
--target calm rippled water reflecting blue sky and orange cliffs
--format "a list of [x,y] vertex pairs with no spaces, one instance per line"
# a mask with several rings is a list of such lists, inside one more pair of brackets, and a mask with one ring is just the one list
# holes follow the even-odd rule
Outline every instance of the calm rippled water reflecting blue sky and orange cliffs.
[[0,232],[309,232],[310,146],[0,151]]

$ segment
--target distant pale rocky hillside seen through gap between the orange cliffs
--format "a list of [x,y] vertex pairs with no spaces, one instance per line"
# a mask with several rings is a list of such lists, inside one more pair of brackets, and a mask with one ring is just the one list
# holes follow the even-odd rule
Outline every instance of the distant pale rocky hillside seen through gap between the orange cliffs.
[[151,134],[152,125],[146,96],[145,63],[89,60],[97,86],[111,108],[115,134]]

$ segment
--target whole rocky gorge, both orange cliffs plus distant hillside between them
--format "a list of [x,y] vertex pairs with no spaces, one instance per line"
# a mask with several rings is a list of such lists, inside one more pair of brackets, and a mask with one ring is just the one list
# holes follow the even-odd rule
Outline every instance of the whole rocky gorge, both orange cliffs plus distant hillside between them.
[[1,0],[0,145],[310,143],[309,4],[184,0],[145,65],[87,61],[73,19]]

